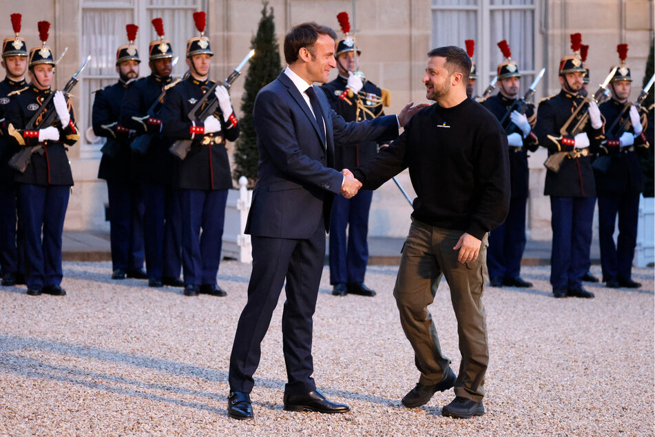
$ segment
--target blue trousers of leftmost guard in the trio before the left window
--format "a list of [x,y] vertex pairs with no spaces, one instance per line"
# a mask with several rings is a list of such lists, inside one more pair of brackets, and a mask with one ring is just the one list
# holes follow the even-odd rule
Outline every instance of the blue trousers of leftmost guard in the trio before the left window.
[[107,181],[112,269],[138,270],[145,256],[143,199],[138,185]]

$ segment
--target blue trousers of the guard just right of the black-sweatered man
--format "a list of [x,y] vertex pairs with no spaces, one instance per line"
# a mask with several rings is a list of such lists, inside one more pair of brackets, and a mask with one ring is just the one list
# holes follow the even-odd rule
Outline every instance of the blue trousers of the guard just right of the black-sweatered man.
[[505,223],[489,234],[487,267],[491,278],[521,276],[521,258],[526,250],[527,197],[512,197]]

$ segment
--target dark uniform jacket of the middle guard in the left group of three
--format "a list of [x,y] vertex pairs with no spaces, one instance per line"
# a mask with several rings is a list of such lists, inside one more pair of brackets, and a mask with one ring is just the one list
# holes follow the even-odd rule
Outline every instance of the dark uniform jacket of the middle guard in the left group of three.
[[[121,105],[120,122],[123,127],[135,130],[137,136],[153,134],[145,156],[135,156],[133,160],[137,178],[151,185],[171,185],[173,156],[168,151],[171,142],[160,133],[159,114],[148,114],[152,103],[171,80],[171,77],[162,78],[154,73],[138,79],[129,85]],[[149,119],[143,123],[132,119],[133,116],[141,118],[146,115],[149,115]]]

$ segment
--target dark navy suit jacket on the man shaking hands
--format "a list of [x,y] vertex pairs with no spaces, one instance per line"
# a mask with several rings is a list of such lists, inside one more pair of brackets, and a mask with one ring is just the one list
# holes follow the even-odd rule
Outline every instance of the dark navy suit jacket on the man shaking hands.
[[384,116],[346,123],[331,110],[321,88],[313,86],[325,121],[322,143],[314,115],[300,91],[284,72],[260,90],[253,120],[259,151],[258,181],[246,233],[273,238],[310,238],[321,215],[326,230],[334,194],[339,194],[342,169],[334,169],[336,144],[393,140],[397,118]]

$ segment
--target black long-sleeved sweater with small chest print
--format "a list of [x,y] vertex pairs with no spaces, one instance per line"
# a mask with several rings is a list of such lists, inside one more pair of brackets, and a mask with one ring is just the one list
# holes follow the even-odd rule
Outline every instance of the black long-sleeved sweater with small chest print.
[[405,131],[355,177],[375,190],[409,167],[416,191],[412,216],[482,239],[503,223],[510,201],[507,136],[488,110],[470,99],[419,111]]

